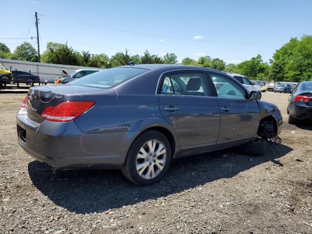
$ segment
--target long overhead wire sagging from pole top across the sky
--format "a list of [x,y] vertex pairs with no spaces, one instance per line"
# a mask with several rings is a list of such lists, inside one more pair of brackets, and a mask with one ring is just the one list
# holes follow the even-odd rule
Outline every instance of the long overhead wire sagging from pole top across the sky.
[[163,35],[140,33],[140,32],[133,32],[133,31],[128,31],[128,30],[116,29],[116,28],[103,27],[103,26],[95,25],[95,24],[82,23],[82,22],[73,21],[73,20],[61,19],[61,18],[54,17],[54,16],[46,16],[46,15],[41,15],[41,14],[38,14],[38,15],[43,16],[43,17],[47,17],[47,18],[51,18],[51,19],[56,19],[56,20],[63,20],[63,21],[71,22],[71,23],[78,23],[78,24],[85,25],[85,26],[97,27],[97,28],[102,28],[102,29],[106,29],[106,30],[123,32],[123,33],[157,37],[157,38],[188,40],[188,41],[201,41],[201,42],[208,42],[208,43],[237,44],[237,45],[279,45],[279,44],[266,44],[266,43],[239,43],[239,42],[227,42],[227,41],[214,41],[214,40],[201,40],[201,39],[187,39],[187,38],[169,37],[169,36],[163,36]]

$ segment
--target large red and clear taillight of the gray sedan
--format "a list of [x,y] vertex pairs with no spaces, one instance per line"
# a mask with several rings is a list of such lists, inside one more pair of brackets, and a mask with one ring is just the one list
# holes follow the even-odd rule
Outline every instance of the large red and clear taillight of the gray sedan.
[[94,101],[64,101],[57,107],[47,107],[41,117],[48,121],[69,122],[81,116],[94,104]]

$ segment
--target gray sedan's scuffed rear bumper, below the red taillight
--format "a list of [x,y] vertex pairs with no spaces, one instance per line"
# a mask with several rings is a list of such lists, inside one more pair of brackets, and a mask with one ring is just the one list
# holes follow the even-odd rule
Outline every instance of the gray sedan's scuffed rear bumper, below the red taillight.
[[[128,145],[122,142],[126,132],[84,134],[75,122],[39,124],[29,119],[23,109],[16,122],[21,148],[54,168],[120,169],[128,152]],[[24,137],[20,137],[22,131],[26,132]],[[124,145],[121,147],[118,142]]]

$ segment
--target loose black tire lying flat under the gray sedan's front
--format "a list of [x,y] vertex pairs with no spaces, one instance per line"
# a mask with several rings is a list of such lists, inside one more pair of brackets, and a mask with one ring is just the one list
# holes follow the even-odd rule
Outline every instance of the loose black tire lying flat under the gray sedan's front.
[[267,151],[267,141],[257,137],[252,142],[236,147],[237,153],[249,156],[262,156]]

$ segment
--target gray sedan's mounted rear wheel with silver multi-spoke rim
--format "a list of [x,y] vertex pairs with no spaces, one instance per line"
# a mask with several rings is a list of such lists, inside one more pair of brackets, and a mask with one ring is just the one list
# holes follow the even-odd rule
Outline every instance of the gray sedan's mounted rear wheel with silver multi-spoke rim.
[[[163,146],[165,153],[159,156],[149,154],[151,150],[148,143],[152,141],[155,144],[155,152],[157,149],[160,149],[158,147]],[[148,154],[142,154],[144,151]],[[163,150],[160,151],[163,152]],[[146,186],[160,181],[165,176],[170,162],[171,146],[168,139],[157,131],[146,131],[140,134],[130,146],[121,171],[123,175],[133,183],[139,186]],[[137,170],[137,167],[140,167],[138,166],[139,164],[141,164],[141,168]],[[160,169],[161,167],[162,169]],[[154,175],[152,172],[149,173],[149,170],[153,171]],[[141,173],[141,175],[139,173]]]

